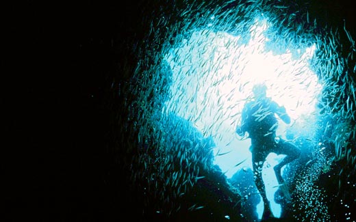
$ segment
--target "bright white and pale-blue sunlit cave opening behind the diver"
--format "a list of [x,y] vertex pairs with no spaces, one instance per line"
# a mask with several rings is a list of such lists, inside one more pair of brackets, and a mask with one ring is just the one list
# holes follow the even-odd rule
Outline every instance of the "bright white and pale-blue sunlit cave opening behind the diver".
[[[293,139],[290,130],[305,137],[316,133],[316,103],[322,83],[309,64],[316,46],[276,51],[266,36],[270,26],[263,15],[256,18],[249,40],[224,31],[197,29],[165,58],[173,70],[173,84],[164,111],[190,120],[204,137],[214,139],[215,164],[227,178],[240,169],[252,168],[251,141],[239,137],[236,126],[256,83],[265,83],[267,96],[284,106],[291,117],[288,125],[279,120],[277,135]],[[281,206],[273,201],[278,182],[272,169],[281,158],[283,155],[270,154],[263,171],[276,217],[281,214]],[[257,206],[259,217],[262,210],[261,201]]]

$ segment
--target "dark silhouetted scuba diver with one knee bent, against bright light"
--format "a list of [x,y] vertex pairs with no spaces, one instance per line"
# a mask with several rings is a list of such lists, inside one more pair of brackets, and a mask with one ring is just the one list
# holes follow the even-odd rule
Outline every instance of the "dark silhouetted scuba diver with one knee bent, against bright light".
[[240,137],[249,133],[251,138],[250,151],[253,161],[254,180],[257,189],[264,201],[264,213],[262,219],[274,217],[270,210],[270,202],[266,196],[266,188],[262,180],[262,167],[266,157],[271,152],[276,154],[285,154],[285,158],[275,167],[275,174],[280,189],[285,194],[285,198],[290,199],[288,187],[281,176],[281,168],[294,161],[301,154],[301,151],[295,145],[276,136],[278,121],[277,114],[283,122],[290,124],[290,116],[286,113],[285,108],[280,107],[277,102],[266,97],[267,87],[264,84],[253,86],[253,100],[246,102],[242,109],[242,121],[240,126],[236,127],[236,133]]

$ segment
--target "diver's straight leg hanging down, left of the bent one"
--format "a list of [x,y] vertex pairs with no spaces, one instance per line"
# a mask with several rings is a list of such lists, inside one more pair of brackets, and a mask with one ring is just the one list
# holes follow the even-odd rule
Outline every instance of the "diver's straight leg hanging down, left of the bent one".
[[264,165],[264,161],[266,160],[266,154],[260,153],[252,153],[252,161],[253,161],[253,179],[255,180],[255,184],[259,191],[259,194],[262,197],[264,202],[264,213],[262,215],[262,219],[267,219],[269,217],[274,217],[272,211],[270,210],[270,202],[267,199],[266,195],[266,187],[264,186],[264,181],[262,179],[262,167]]

